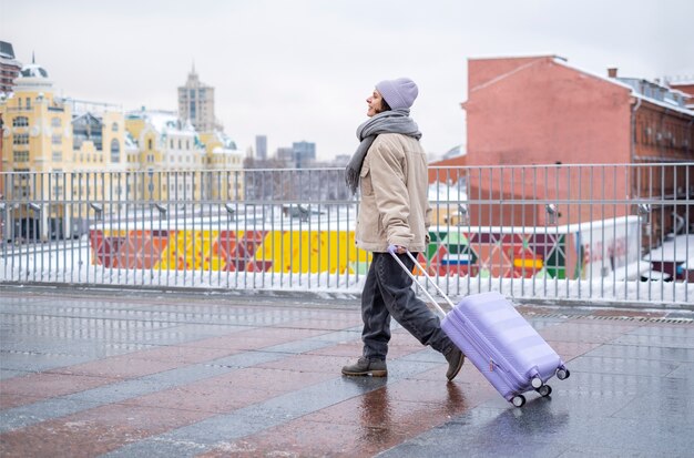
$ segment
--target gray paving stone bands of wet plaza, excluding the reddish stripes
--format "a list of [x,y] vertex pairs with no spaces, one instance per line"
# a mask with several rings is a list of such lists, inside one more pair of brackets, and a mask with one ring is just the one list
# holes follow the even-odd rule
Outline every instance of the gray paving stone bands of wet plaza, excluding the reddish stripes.
[[[293,323],[315,317],[325,319],[326,311],[335,317],[343,314],[354,323],[358,316],[358,301],[335,304],[315,299],[303,302],[297,297],[292,301],[244,298],[228,306],[223,299],[207,302],[175,295],[127,294],[115,301],[103,294],[58,298],[0,294],[0,379],[146,348],[169,345],[184,348],[183,344],[239,330],[266,326],[292,328]],[[550,314],[542,309],[542,314],[529,318],[535,328],[548,332],[560,324],[565,326],[567,319],[592,316],[591,311],[561,307]],[[686,318],[693,314],[681,312],[680,315]],[[573,323],[575,328],[565,327],[569,332],[567,342],[576,343],[579,348],[594,348],[568,362],[571,377],[552,379],[550,397],[529,394],[528,403],[521,409],[500,396],[483,398],[481,404],[448,418],[439,427],[417,436],[404,436],[400,444],[380,456],[692,456],[694,325],[651,323],[630,317]],[[8,408],[0,411],[0,432],[18,431],[41,421],[336,344],[354,345],[359,335],[360,326],[326,329],[323,334],[297,337],[266,348]],[[441,367],[441,364],[438,353],[422,348],[390,359],[387,378],[341,377],[336,368],[336,375],[327,380],[147,437],[106,456],[195,457],[213,448],[234,456],[244,451],[235,448],[241,444],[238,439],[271,431],[380,387],[417,379],[420,374]],[[474,385],[468,383],[459,384],[459,387],[474,389]],[[324,455],[330,456],[331,452],[325,450]],[[275,450],[273,454],[287,455],[290,451]]]

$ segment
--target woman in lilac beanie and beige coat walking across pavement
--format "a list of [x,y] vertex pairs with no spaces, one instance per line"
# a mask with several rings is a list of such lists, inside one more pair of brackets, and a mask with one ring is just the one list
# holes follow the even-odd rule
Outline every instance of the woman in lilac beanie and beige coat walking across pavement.
[[343,367],[344,375],[385,377],[390,340],[390,317],[421,344],[430,345],[448,360],[452,380],[465,356],[441,330],[439,317],[416,297],[412,279],[389,250],[408,268],[414,262],[405,253],[423,252],[428,242],[431,207],[427,199],[427,154],[419,128],[409,109],[419,90],[410,79],[399,78],[376,84],[366,100],[368,121],[357,129],[361,142],[346,170],[347,185],[360,191],[355,242],[372,253],[371,266],[361,294],[363,356]]

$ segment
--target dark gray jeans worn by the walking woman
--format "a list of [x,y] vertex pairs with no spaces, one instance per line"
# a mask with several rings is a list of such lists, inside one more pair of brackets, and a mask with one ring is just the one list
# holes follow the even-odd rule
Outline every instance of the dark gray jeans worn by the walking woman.
[[[415,266],[407,254],[398,256],[408,268]],[[438,315],[415,295],[411,286],[412,278],[390,253],[374,253],[361,293],[361,340],[367,358],[386,359],[391,316],[422,345],[430,345],[443,355],[453,348],[453,343],[441,330]]]

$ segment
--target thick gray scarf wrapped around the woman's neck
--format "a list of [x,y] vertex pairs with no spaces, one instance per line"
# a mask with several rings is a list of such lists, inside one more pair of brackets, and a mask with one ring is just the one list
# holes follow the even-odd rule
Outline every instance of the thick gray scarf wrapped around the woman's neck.
[[364,164],[364,157],[366,157],[366,153],[378,134],[401,133],[417,140],[421,139],[421,132],[419,132],[417,123],[412,121],[409,114],[409,109],[384,111],[357,128],[357,139],[361,143],[357,146],[357,151],[355,151],[345,169],[345,181],[353,194],[357,193],[357,187],[359,186],[359,174],[361,164]]

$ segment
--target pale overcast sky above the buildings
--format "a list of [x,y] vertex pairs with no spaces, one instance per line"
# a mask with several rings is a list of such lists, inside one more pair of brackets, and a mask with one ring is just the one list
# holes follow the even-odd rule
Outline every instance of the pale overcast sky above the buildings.
[[467,61],[557,54],[601,75],[694,79],[693,0],[0,0],[0,40],[57,93],[177,110],[193,62],[246,150],[306,140],[351,154],[384,79],[419,85],[422,144],[465,143]]

